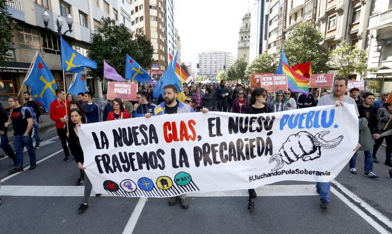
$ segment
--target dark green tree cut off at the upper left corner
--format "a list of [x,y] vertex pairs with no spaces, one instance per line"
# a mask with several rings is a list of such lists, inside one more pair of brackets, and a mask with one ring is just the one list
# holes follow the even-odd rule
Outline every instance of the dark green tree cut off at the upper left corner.
[[9,45],[12,43],[12,30],[14,29],[14,23],[10,18],[10,14],[7,12],[6,0],[0,0],[0,61],[6,60],[11,56],[9,51]]

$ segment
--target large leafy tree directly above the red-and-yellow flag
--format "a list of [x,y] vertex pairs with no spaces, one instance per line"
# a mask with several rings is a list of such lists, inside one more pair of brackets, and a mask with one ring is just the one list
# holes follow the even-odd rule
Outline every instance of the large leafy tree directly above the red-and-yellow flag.
[[310,22],[300,23],[289,31],[283,42],[283,50],[291,67],[311,60],[313,73],[328,72],[328,51],[324,38]]

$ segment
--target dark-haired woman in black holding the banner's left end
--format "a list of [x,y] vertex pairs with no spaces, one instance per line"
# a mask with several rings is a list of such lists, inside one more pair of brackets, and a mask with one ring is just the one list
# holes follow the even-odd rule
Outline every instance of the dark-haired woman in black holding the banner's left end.
[[[80,207],[77,209],[79,213],[82,213],[88,208],[88,200],[91,194],[91,190],[93,188],[93,185],[91,184],[89,178],[86,175],[84,175],[84,169],[86,168],[83,166],[84,155],[83,155],[82,147],[80,146],[79,133],[78,133],[78,128],[80,128],[80,125],[86,123],[86,118],[83,116],[80,109],[74,108],[71,109],[70,111],[70,119],[74,127],[70,130],[69,133],[67,133],[67,137],[69,137],[70,148],[73,152],[73,156],[75,156],[77,167],[81,171],[83,171],[83,180],[85,180],[84,198],[82,203],[80,204]],[[99,195],[100,194],[96,194],[96,196]]]

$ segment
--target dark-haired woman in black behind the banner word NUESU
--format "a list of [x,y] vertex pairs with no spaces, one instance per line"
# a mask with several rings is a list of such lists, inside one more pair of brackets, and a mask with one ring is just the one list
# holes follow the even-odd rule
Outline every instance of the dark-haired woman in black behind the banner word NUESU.
[[[246,114],[270,113],[270,108],[266,105],[267,91],[264,88],[257,87],[252,91],[249,106],[246,108]],[[249,203],[248,209],[254,207],[254,197],[256,192],[253,188],[248,189]]]

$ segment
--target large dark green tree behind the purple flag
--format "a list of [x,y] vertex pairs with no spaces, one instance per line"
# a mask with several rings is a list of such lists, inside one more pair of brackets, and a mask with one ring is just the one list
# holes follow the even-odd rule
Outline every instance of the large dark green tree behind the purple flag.
[[151,68],[154,62],[154,48],[143,31],[137,31],[135,36],[123,24],[117,25],[115,20],[102,18],[100,26],[91,36],[88,56],[97,62],[97,69],[88,71],[88,76],[102,78],[103,60],[125,76],[125,56],[129,54],[145,70]]

